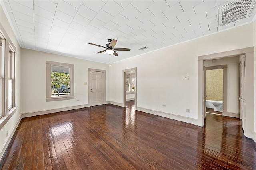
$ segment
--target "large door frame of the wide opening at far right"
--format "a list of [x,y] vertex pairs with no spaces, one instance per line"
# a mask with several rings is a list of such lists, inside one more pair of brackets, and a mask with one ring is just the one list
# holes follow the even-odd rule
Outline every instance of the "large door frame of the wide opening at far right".
[[[248,47],[243,49],[236,49],[232,51],[225,51],[220,53],[214,53],[209,55],[198,56],[198,125],[204,125],[204,90],[203,90],[203,61],[210,59],[219,59],[224,57],[232,57],[237,55],[245,55],[246,67],[245,67],[245,91],[246,91],[246,128],[244,129],[244,135],[249,138],[254,137],[254,84],[255,84],[255,73],[254,73],[254,47]],[[250,93],[249,93],[250,92]]]

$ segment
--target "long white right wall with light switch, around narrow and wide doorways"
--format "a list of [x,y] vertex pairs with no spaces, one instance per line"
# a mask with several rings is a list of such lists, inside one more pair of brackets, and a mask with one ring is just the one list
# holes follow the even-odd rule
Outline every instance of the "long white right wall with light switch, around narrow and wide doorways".
[[202,121],[197,121],[198,106],[202,105],[198,103],[198,56],[252,47],[252,32],[250,23],[112,63],[110,101],[123,103],[122,70],[137,67],[138,110],[202,126]]

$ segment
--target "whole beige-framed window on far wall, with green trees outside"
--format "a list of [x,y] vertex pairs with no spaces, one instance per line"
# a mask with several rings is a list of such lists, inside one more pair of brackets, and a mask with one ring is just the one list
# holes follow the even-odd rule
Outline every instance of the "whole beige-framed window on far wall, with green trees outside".
[[46,61],[46,101],[74,99],[74,65]]

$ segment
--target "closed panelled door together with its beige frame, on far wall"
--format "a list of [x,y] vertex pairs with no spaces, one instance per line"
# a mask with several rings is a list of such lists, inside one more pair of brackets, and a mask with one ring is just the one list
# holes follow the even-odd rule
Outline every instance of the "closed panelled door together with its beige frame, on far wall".
[[88,103],[90,106],[106,104],[106,71],[88,69]]

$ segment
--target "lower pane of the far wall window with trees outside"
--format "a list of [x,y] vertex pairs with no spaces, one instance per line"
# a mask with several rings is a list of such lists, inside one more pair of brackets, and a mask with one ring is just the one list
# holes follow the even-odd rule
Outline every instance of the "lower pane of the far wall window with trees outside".
[[70,82],[56,82],[52,81],[52,95],[51,97],[69,96]]

